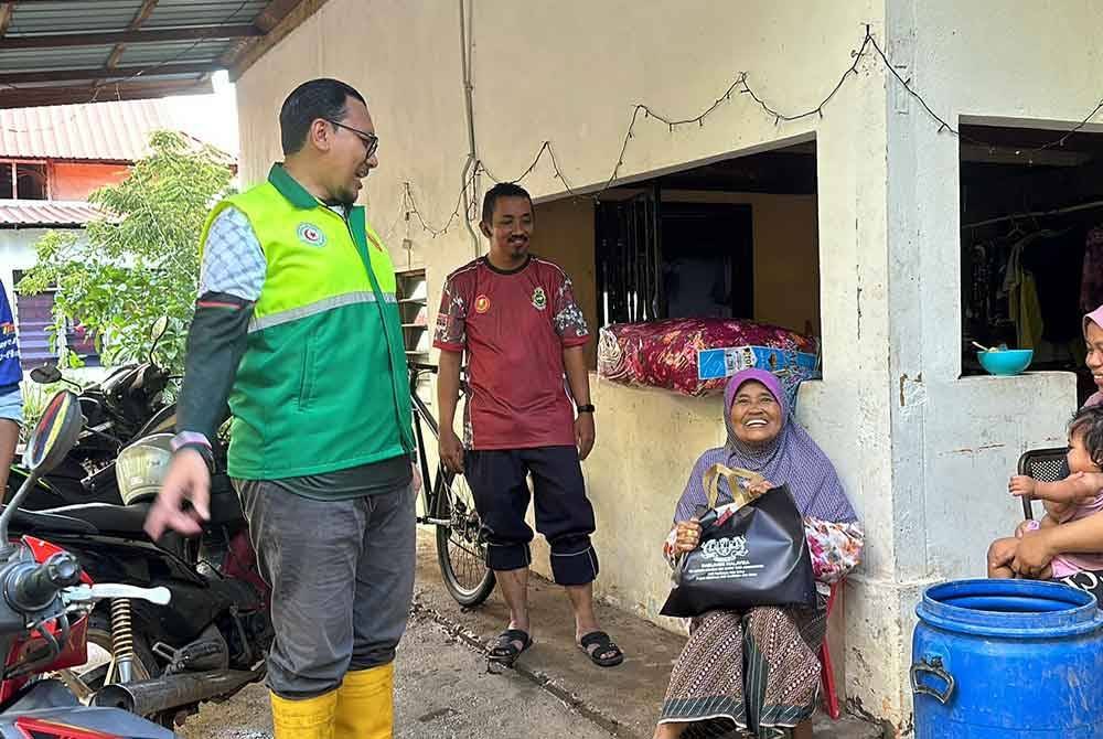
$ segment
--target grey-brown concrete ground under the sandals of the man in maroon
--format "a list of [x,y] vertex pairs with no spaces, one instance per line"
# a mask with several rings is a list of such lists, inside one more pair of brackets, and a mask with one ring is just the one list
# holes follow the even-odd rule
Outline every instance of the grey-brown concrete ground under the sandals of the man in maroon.
[[[534,577],[535,644],[516,670],[491,675],[482,650],[507,620],[501,596],[494,592],[482,607],[461,609],[440,582],[431,536],[419,540],[417,577],[396,663],[395,737],[650,739],[682,636],[599,606],[602,628],[627,656],[619,667],[598,667],[574,644],[574,620],[561,589]],[[251,686],[225,704],[207,704],[180,736],[269,739],[267,693]],[[815,736],[877,739],[881,730],[850,717],[831,721],[820,715]]]

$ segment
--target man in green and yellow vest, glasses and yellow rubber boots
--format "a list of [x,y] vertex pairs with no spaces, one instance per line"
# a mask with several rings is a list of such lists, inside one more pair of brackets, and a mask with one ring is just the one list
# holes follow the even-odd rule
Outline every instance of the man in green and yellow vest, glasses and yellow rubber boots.
[[296,88],[280,132],[283,163],[203,233],[174,454],[147,531],[200,532],[228,403],[228,471],[272,588],[276,737],[383,739],[415,521],[395,272],[354,205],[379,139],[335,79]]

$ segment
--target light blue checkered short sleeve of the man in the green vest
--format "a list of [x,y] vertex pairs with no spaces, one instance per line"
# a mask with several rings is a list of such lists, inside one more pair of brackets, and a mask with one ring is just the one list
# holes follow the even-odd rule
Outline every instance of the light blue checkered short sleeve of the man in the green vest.
[[256,302],[268,263],[248,217],[236,207],[219,213],[207,231],[200,267],[200,296],[224,292]]

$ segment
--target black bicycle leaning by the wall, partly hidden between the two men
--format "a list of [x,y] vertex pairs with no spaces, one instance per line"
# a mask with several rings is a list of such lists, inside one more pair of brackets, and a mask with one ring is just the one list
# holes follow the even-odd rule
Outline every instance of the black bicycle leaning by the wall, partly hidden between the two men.
[[[422,422],[439,438],[437,419],[418,396],[417,387],[424,373],[437,373],[437,366],[409,363],[410,403],[414,409],[414,440],[417,443],[418,471],[421,473],[422,515],[418,524],[437,527],[437,563],[448,593],[460,606],[479,606],[494,590],[494,572],[486,567],[486,539],[482,521],[475,511],[474,496],[462,475],[454,474],[438,462],[435,478],[429,474],[429,457],[425,448]],[[461,379],[461,386],[463,381]]]

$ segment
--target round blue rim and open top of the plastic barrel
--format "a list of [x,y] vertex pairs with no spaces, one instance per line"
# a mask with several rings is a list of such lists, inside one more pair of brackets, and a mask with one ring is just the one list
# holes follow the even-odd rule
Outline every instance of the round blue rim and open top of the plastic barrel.
[[1059,582],[955,580],[927,589],[920,621],[959,633],[1052,639],[1103,629],[1095,598]]

